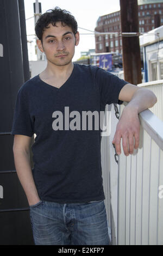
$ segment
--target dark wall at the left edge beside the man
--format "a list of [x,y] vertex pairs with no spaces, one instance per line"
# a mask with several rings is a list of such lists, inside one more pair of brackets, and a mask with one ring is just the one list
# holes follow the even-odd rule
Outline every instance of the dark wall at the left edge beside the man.
[[17,91],[29,79],[24,17],[23,0],[0,0],[0,245],[33,244],[28,202],[17,178],[14,136],[10,135]]

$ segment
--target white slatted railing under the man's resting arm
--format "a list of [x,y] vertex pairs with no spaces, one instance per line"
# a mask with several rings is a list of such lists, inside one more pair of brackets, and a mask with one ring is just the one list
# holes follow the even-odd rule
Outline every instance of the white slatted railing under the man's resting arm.
[[141,112],[140,147],[127,157],[122,149],[117,164],[112,139],[118,119],[114,105],[108,107],[111,135],[102,137],[102,169],[111,242],[163,245],[163,122],[149,109]]

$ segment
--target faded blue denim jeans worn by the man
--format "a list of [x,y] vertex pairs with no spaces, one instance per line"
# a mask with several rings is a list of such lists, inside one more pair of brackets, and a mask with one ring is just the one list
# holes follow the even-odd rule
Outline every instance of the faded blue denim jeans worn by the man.
[[109,245],[104,200],[30,206],[35,245]]

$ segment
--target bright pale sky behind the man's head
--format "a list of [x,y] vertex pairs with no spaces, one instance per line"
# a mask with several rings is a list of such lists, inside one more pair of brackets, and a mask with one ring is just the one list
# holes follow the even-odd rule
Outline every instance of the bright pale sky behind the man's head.
[[[34,16],[33,3],[35,0],[24,0],[26,19]],[[40,0],[42,7],[42,14],[49,9],[53,9],[56,6],[61,9],[66,9],[76,18],[78,27],[89,29],[94,31],[96,22],[99,16],[113,13],[120,10],[120,0]],[[35,38],[34,31],[34,18],[26,21],[27,39],[32,42],[32,50],[29,52],[29,60],[36,60],[34,58],[34,44]],[[83,29],[78,29],[80,33],[79,45],[76,46],[73,61],[80,58],[80,52],[88,51],[95,48],[95,36],[94,35],[82,35],[82,33],[91,33]],[[32,36],[29,36],[32,35]]]

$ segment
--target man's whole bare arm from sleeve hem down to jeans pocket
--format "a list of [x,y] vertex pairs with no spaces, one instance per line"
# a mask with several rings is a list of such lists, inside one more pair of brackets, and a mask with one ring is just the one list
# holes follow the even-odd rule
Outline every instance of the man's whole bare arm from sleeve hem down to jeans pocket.
[[30,146],[31,137],[24,135],[14,135],[14,162],[18,179],[26,193],[29,205],[39,202],[40,198],[36,190],[33,179],[32,169],[30,167]]

